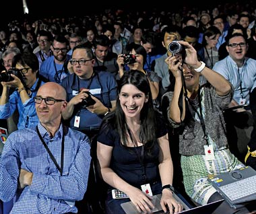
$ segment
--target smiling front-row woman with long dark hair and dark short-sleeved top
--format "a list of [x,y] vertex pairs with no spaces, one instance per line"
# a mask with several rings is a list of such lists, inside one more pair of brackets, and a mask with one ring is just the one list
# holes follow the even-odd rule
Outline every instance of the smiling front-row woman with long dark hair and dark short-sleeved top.
[[[182,211],[170,190],[173,174],[167,129],[153,108],[148,78],[141,71],[127,71],[117,92],[117,107],[102,120],[97,139],[100,174],[108,184],[106,214],[124,214],[121,204],[127,201],[139,213],[151,213],[154,202],[149,192],[162,192],[164,212],[172,213],[172,206],[174,213]],[[129,199],[114,199],[114,188]]]

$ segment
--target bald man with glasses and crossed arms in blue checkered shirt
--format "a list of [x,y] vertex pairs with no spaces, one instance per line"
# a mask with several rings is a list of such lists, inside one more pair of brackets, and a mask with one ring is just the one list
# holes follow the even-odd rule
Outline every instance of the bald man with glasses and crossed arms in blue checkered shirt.
[[0,199],[13,199],[11,213],[77,213],[90,170],[86,135],[65,127],[66,92],[58,83],[42,85],[34,102],[40,122],[14,131],[0,162]]

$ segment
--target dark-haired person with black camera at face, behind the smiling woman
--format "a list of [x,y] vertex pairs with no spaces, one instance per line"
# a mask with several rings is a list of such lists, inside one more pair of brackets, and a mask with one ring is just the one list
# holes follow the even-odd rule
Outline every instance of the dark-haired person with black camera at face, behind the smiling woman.
[[159,110],[160,104],[157,98],[159,94],[160,77],[158,77],[157,73],[154,71],[146,71],[143,69],[146,59],[147,52],[143,46],[140,44],[135,44],[134,42],[127,44],[125,55],[119,55],[117,59],[117,64],[119,65],[119,76],[122,77],[125,70],[137,70],[145,74],[150,82],[150,90],[152,93],[154,108]]

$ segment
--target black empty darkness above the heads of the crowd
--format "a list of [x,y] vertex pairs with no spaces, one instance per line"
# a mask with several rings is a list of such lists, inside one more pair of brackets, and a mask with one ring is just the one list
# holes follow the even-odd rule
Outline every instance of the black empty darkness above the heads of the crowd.
[[[125,11],[179,11],[185,6],[211,9],[219,4],[245,4],[245,2],[252,0],[210,0],[204,1],[204,3],[199,3],[199,1],[203,0],[153,0],[153,3],[136,0],[26,0],[29,9],[28,17],[32,17],[32,19],[36,19],[37,17],[73,17],[94,13],[100,14],[104,9],[124,9]],[[0,26],[9,23],[11,20],[24,17],[22,0],[1,1],[0,9]]]

